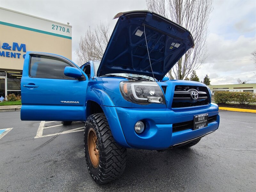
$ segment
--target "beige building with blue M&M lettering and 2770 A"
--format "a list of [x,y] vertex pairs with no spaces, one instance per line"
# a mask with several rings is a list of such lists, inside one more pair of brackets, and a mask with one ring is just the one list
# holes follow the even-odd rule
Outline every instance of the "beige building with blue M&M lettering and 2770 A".
[[27,51],[55,53],[71,60],[72,26],[0,7],[0,97],[20,95]]

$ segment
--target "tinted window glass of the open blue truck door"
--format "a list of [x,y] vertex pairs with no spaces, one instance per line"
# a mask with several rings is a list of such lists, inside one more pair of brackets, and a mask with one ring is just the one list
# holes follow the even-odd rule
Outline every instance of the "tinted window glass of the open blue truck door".
[[73,66],[58,58],[32,55],[29,66],[29,75],[31,77],[48,79],[75,79],[64,75],[65,67]]

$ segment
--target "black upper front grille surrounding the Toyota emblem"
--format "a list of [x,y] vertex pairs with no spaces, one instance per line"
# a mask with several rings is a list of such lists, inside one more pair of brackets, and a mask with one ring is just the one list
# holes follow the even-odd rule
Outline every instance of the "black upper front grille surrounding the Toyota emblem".
[[[193,101],[190,93],[196,90],[198,92],[198,100]],[[193,107],[210,104],[210,93],[207,87],[176,85],[174,89],[172,108]]]

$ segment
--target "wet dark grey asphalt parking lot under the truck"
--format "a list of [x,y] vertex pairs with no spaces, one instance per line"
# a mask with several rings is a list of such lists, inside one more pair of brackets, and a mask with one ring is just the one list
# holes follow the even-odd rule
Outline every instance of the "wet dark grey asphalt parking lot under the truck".
[[99,186],[85,165],[84,124],[0,112],[0,129],[12,128],[0,136],[0,191],[256,191],[256,115],[221,110],[220,119],[189,149],[128,149],[124,175]]

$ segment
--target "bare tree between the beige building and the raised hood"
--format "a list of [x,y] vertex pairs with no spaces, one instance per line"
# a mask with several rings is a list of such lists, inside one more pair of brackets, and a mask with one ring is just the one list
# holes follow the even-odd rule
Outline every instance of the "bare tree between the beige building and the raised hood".
[[94,30],[89,28],[80,38],[79,48],[76,50],[77,64],[81,66],[89,60],[101,60],[109,38],[109,25],[100,22]]

